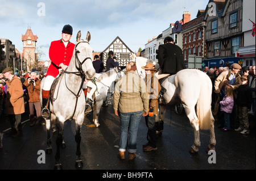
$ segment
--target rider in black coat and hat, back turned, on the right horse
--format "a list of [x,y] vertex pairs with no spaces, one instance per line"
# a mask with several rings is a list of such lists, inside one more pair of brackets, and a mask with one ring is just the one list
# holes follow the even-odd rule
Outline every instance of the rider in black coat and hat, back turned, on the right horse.
[[174,39],[170,36],[167,36],[164,39],[164,44],[158,48],[158,63],[163,74],[176,74],[186,68],[182,50],[175,45]]

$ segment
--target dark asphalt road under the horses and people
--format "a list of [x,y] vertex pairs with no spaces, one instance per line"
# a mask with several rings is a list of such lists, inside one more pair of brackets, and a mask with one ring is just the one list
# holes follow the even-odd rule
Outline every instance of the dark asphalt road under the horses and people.
[[[147,127],[142,118],[138,129],[137,157],[133,161],[117,158],[119,145],[119,118],[114,115],[110,102],[108,107],[102,107],[100,127],[92,124],[92,116],[85,117],[82,126],[81,158],[84,167],[80,170],[117,171],[155,171],[155,170],[255,170],[255,127],[249,135],[243,136],[235,131],[222,132],[215,124],[216,163],[209,163],[205,151],[209,143],[209,131],[201,131],[201,146],[199,153],[190,154],[193,144],[193,131],[185,113],[177,115],[167,107],[166,120],[162,136],[158,137],[158,150],[144,152],[142,145],[147,142]],[[52,170],[55,165],[56,134],[52,136],[53,153],[46,155],[38,151],[46,150],[46,128],[36,124],[29,126],[28,117],[22,116],[23,136],[12,138],[3,136],[3,148],[0,149],[1,170]],[[255,123],[255,122],[254,122]],[[8,121],[1,117],[0,131],[6,132]],[[67,120],[64,125],[65,149],[61,149],[61,163],[65,170],[76,170],[75,123]],[[101,174],[102,175],[102,174]],[[100,175],[100,176],[101,176]]]

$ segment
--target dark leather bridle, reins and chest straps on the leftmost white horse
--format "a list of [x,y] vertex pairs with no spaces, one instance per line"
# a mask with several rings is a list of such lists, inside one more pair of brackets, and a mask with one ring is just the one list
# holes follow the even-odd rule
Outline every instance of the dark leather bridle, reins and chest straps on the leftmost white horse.
[[[80,41],[79,43],[76,44],[76,47],[77,47],[77,45],[79,45],[80,43],[88,43],[88,44],[89,44],[88,41]],[[76,47],[75,47],[75,49],[76,49]],[[77,76],[80,76],[81,79],[82,79],[81,85],[80,85],[80,87],[79,87],[79,91],[78,91],[77,94],[76,94],[75,92],[73,92],[72,90],[70,90],[70,89],[68,88],[67,81],[66,81],[66,76],[65,76],[65,74],[64,74],[65,86],[67,87],[67,89],[68,89],[69,91],[71,91],[71,93],[72,93],[73,95],[76,96],[75,110],[74,110],[73,115],[72,115],[71,118],[73,118],[73,116],[75,115],[76,107],[77,107],[77,101],[78,101],[78,98],[79,98],[80,95],[81,95],[82,85],[84,84],[84,81],[85,81],[85,73],[84,73],[84,70],[82,70],[82,64],[84,64],[84,62],[85,62],[86,60],[88,60],[88,59],[92,60],[92,58],[86,57],[86,58],[84,59],[84,61],[81,62],[81,61],[79,60],[79,57],[77,56],[77,51],[76,51],[76,53],[75,53],[75,65],[76,65],[76,69],[77,69],[78,71],[72,72],[72,71],[67,71],[67,69],[66,69],[66,70],[63,70],[63,73],[66,73],[66,74],[75,74],[75,75],[77,75]],[[78,63],[78,66],[77,66],[77,63]],[[59,91],[57,91],[57,92],[59,92]],[[55,100],[56,100],[56,99],[55,99]]]

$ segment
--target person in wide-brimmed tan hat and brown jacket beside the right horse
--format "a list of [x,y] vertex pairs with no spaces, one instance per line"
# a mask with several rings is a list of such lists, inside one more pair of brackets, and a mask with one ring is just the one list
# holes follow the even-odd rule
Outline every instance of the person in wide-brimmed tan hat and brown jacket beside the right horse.
[[156,147],[156,125],[155,117],[158,115],[158,95],[161,90],[161,86],[158,82],[158,78],[155,77],[156,69],[155,65],[147,63],[146,66],[142,66],[146,72],[146,85],[149,97],[149,110],[148,115],[145,116],[147,131],[147,144],[143,145],[144,151],[157,150]]

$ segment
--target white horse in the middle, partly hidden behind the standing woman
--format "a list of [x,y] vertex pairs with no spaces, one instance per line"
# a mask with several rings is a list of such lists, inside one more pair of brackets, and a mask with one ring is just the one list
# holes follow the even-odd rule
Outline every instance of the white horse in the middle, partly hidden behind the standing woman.
[[100,115],[102,104],[106,100],[108,90],[111,88],[110,86],[113,86],[114,90],[114,81],[117,81],[117,79],[122,77],[124,74],[124,71],[114,68],[102,73],[97,79],[95,79],[98,94],[96,94],[94,99],[95,103],[93,104],[93,123],[96,127],[100,126],[100,123],[98,123],[98,115]]

